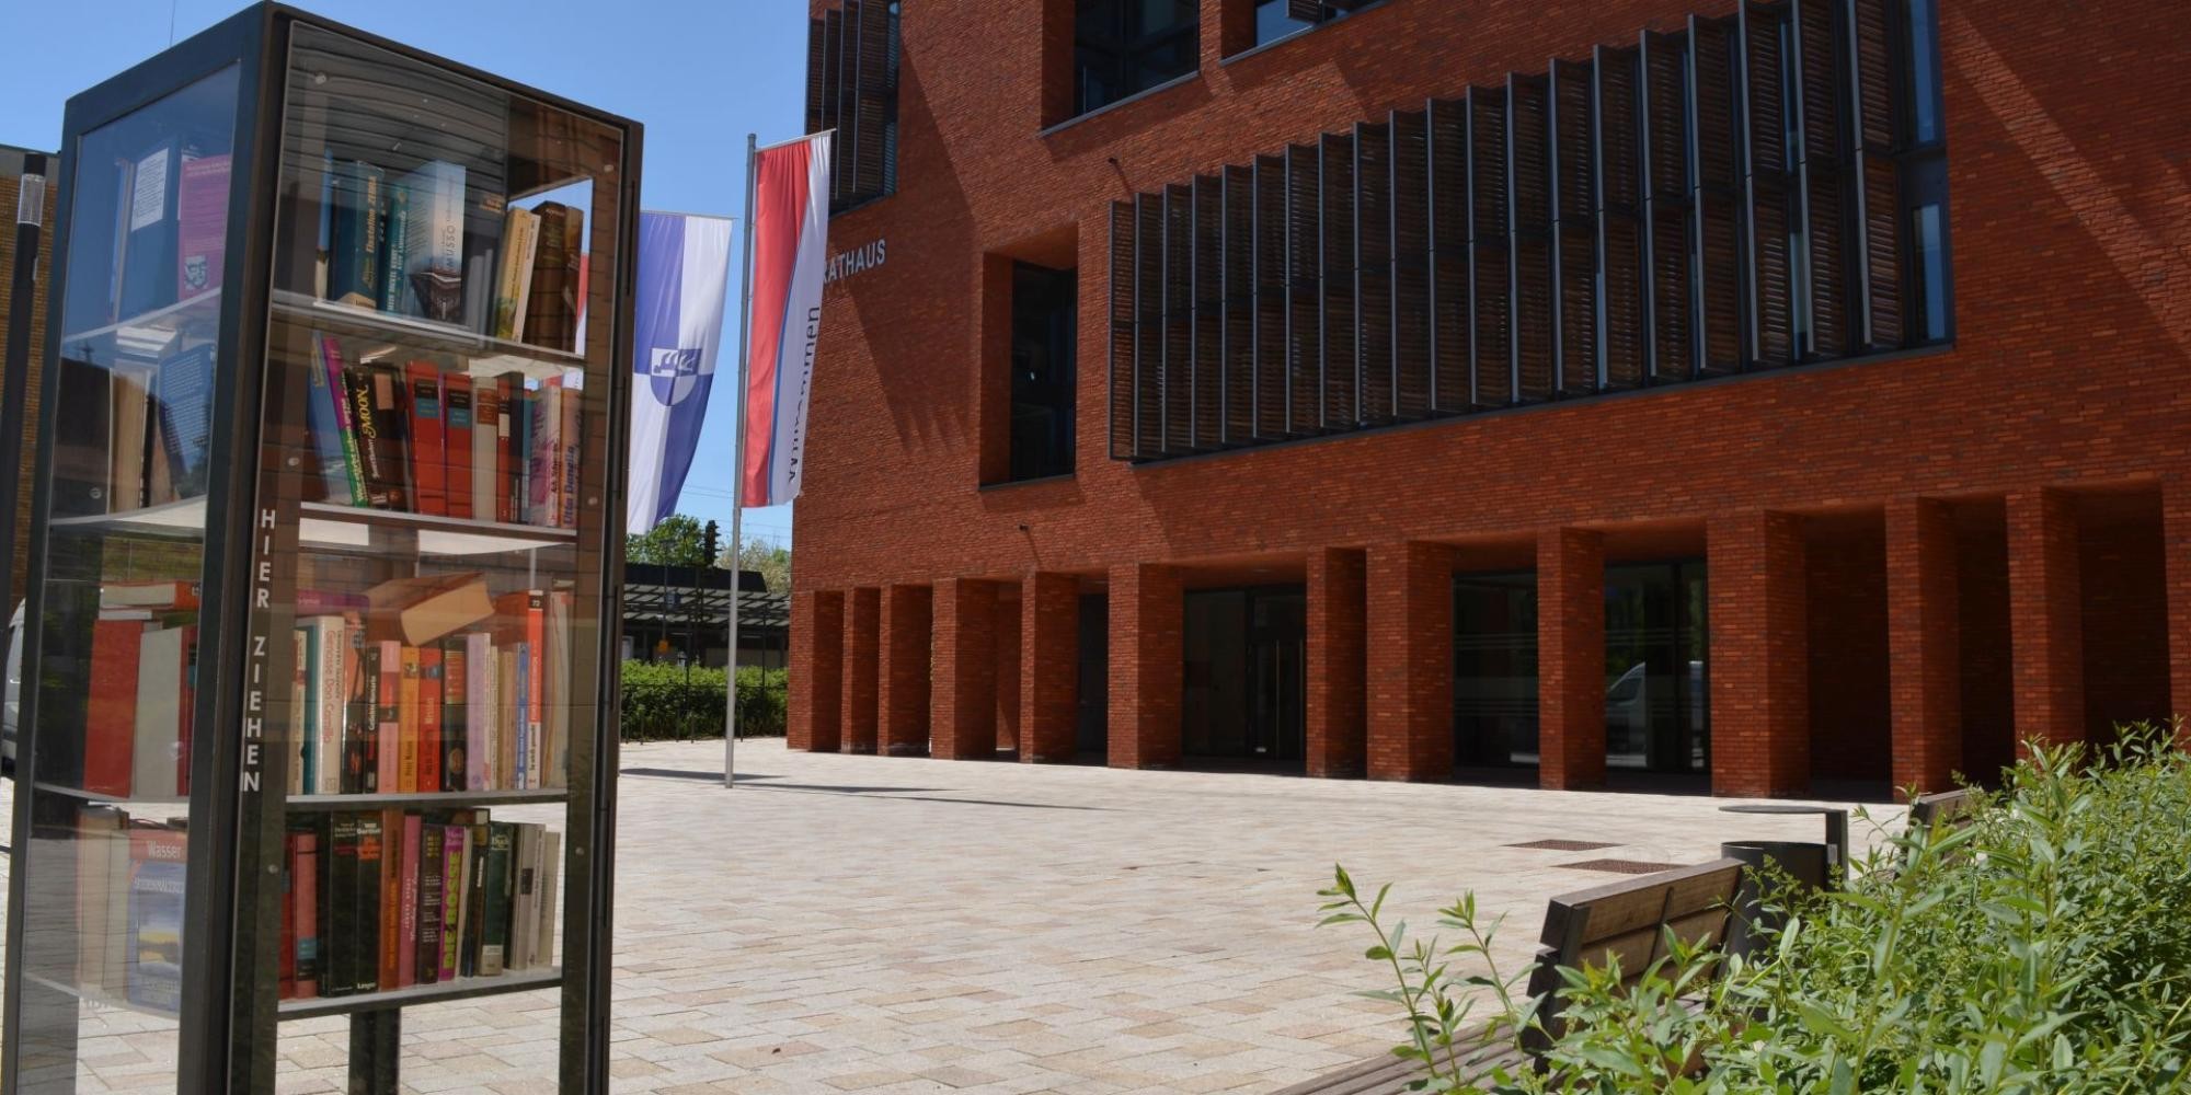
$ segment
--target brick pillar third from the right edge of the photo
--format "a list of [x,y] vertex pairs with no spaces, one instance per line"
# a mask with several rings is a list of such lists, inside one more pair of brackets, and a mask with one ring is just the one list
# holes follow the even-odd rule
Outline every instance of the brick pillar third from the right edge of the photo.
[[1895,788],[1946,791],[1963,764],[1963,653],[1954,515],[1946,502],[1886,504],[1886,675]]

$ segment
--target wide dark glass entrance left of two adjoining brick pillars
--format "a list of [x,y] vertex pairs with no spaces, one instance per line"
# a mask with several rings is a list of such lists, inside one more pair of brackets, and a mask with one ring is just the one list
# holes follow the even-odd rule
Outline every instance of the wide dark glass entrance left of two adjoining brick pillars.
[[1299,585],[1185,598],[1181,751],[1301,764],[1308,593]]

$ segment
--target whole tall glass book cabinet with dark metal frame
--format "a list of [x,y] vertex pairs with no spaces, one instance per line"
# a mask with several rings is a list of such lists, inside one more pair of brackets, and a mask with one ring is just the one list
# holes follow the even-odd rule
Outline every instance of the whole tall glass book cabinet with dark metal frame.
[[68,103],[11,1091],[607,1088],[638,164],[276,4]]

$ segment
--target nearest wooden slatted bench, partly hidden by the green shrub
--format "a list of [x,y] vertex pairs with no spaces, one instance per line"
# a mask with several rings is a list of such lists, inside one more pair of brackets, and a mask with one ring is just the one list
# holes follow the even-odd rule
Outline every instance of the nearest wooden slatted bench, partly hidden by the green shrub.
[[[1716,948],[1727,942],[1735,887],[1742,885],[1742,863],[1720,858],[1696,867],[1626,878],[1602,887],[1551,898],[1545,907],[1545,933],[1529,975],[1529,994],[1545,996],[1538,1016],[1547,1031],[1560,1029],[1560,968],[1608,968],[1619,961],[1621,983],[1634,986],[1667,955],[1667,935],[1691,946]],[[1466,1049],[1475,1053],[1479,1027]],[[1532,1049],[1542,1049],[1540,1045]],[[1481,1051],[1466,1067],[1472,1077],[1492,1069],[1527,1067],[1529,1051],[1510,1036],[1501,1047]],[[1337,1073],[1293,1084],[1277,1095],[1398,1095],[1409,1091],[1429,1069],[1420,1060],[1380,1056],[1350,1064]]]

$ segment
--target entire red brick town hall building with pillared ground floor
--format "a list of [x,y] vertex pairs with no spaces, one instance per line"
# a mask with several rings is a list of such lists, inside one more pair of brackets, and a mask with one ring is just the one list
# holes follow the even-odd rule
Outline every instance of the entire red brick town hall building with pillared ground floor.
[[795,749],[1884,793],[2191,712],[2180,9],[813,13]]

